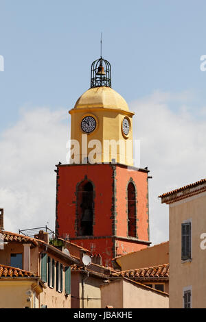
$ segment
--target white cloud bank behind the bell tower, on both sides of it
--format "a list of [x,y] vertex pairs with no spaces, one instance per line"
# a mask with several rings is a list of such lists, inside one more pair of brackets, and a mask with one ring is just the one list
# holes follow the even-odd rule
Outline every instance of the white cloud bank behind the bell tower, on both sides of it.
[[[134,138],[141,140],[141,166],[148,166],[153,177],[149,181],[153,244],[168,240],[168,206],[158,195],[205,177],[205,108],[195,117],[188,97],[187,92],[155,92],[130,105],[135,112]],[[68,119],[65,109],[22,110],[16,125],[1,134],[0,208],[5,208],[5,230],[16,232],[47,222],[54,229],[54,169],[58,161],[65,162]]]

